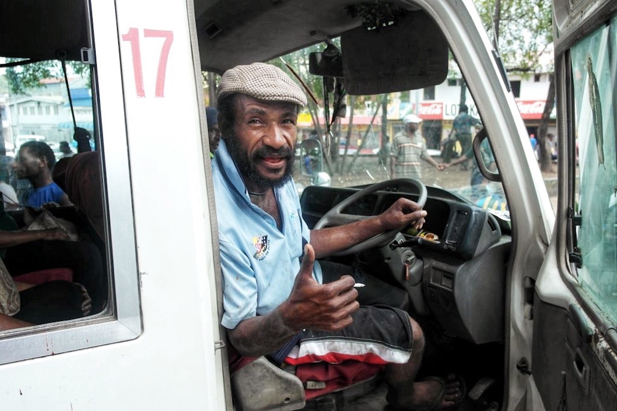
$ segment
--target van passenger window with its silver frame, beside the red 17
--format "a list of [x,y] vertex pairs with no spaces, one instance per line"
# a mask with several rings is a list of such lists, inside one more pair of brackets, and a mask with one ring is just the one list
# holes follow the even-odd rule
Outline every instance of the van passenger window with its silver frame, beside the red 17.
[[[6,107],[0,139],[0,299],[19,293],[18,305],[10,309],[0,300],[0,364],[141,333],[135,254],[116,252],[135,250],[126,136],[109,133],[106,142],[116,150],[103,152],[101,144],[106,126],[97,90],[106,87],[107,101],[122,107],[122,84],[104,80],[119,73],[78,61],[93,33],[85,1],[48,5],[44,12],[14,12],[2,27],[10,42],[0,39],[0,63],[10,63],[0,68],[1,84],[7,84],[0,90]],[[25,22],[41,20],[40,14],[48,14],[49,24],[32,26],[20,43],[17,33]],[[65,20],[75,23],[71,31]],[[41,30],[52,33],[49,41],[39,41]],[[66,76],[56,53],[62,45]],[[32,116],[43,106],[46,115]],[[126,172],[110,176],[111,164]],[[123,229],[114,231],[118,221]],[[10,242],[15,230],[31,235]],[[54,341],[53,350],[44,349],[46,341]]]

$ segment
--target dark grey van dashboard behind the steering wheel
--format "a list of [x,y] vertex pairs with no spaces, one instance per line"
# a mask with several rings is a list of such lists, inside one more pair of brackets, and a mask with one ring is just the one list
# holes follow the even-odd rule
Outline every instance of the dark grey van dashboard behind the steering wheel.
[[[306,187],[300,206],[309,228],[359,190]],[[410,227],[405,227],[389,245],[355,256],[352,264],[387,275],[387,281],[404,288],[410,295],[412,316],[430,315],[450,334],[474,344],[498,341],[503,336],[504,279],[511,237],[489,211],[438,187],[427,187],[427,191],[423,230],[436,235],[436,240],[411,235]],[[342,213],[378,215],[400,197],[416,201],[418,189],[393,184],[368,193]],[[404,275],[404,261],[410,255],[414,262],[410,275]]]

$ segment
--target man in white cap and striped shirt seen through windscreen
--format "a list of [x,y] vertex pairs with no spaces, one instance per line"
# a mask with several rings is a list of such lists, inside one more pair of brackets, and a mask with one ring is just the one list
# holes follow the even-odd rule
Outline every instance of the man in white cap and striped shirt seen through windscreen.
[[390,151],[390,178],[422,179],[420,160],[424,160],[434,168],[444,169],[426,151],[424,139],[418,132],[422,119],[415,114],[403,118],[405,129],[395,134]]

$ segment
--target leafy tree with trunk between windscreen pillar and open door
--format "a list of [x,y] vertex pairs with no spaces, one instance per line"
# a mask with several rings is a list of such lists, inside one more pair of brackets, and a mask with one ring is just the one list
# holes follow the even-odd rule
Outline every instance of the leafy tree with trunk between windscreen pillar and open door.
[[[550,1],[474,0],[474,4],[508,72],[524,75],[543,69],[540,55],[553,41]],[[553,70],[551,67],[548,71]],[[555,105],[555,76],[551,73],[549,77],[549,92],[537,135],[542,171],[549,171],[552,161],[546,131]]]

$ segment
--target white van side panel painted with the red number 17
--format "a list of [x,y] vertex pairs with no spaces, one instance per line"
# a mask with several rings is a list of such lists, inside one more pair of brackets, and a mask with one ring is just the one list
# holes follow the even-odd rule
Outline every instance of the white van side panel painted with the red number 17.
[[[1,408],[228,409],[201,73],[187,4],[95,1],[91,15],[109,136],[104,167],[114,187],[107,193],[114,287],[124,290],[114,301],[118,319],[4,336]],[[135,94],[130,47],[120,39],[131,27],[173,31],[164,98],[154,97],[157,39],[141,48],[147,95]],[[173,147],[160,150],[170,136]],[[182,183],[168,184],[172,176]]]

